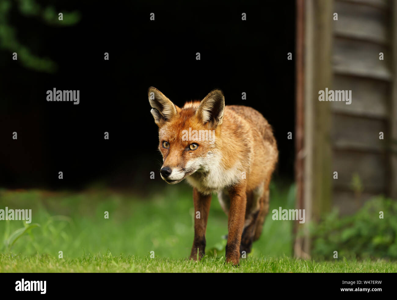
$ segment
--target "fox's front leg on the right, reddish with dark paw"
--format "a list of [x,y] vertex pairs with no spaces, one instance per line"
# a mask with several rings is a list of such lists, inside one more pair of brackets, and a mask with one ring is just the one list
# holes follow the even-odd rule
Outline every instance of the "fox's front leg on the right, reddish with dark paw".
[[232,262],[233,265],[237,265],[240,260],[241,235],[243,234],[245,206],[247,205],[245,189],[245,185],[235,185],[228,190],[230,209],[226,243],[226,262]]

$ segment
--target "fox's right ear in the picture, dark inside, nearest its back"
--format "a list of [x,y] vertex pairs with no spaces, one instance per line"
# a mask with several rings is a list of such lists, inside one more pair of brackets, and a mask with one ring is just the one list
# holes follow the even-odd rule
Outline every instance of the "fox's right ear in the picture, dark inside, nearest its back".
[[203,100],[197,109],[197,116],[204,124],[216,128],[223,122],[225,109],[225,96],[222,90],[212,90]]

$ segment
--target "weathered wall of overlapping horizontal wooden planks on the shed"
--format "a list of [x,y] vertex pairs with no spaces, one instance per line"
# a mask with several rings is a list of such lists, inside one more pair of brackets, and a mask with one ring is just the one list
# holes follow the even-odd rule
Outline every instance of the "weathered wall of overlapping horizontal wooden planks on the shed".
[[[331,89],[352,91],[350,105],[330,102],[331,166],[338,172],[332,181],[332,206],[342,214],[390,190],[391,9],[386,0],[333,1],[338,20],[333,21]],[[353,192],[355,174],[362,182],[360,194]]]

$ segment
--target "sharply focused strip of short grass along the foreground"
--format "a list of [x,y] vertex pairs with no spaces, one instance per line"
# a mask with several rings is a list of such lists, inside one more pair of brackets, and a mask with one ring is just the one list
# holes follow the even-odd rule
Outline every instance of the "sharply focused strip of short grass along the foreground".
[[138,258],[135,256],[82,256],[58,259],[54,256],[35,255],[29,258],[0,254],[0,272],[397,272],[397,265],[382,260],[347,262],[313,262],[293,258],[243,259],[239,267],[225,264],[224,257],[204,257],[200,262],[187,259]]

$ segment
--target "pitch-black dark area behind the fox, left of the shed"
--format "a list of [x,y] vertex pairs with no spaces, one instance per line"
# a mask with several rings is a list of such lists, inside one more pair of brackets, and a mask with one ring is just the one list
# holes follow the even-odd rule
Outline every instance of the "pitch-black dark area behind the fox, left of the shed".
[[[27,69],[0,51],[0,187],[147,188],[162,161],[150,86],[178,106],[213,88],[224,91],[226,105],[252,106],[278,140],[275,176],[293,179],[294,140],[287,132],[295,127],[295,61],[287,53],[294,58],[295,2],[167,3],[57,2],[59,12],[81,12],[71,27],[49,26],[12,8],[19,41],[58,70]],[[54,87],[80,90],[80,104],[47,102]]]

